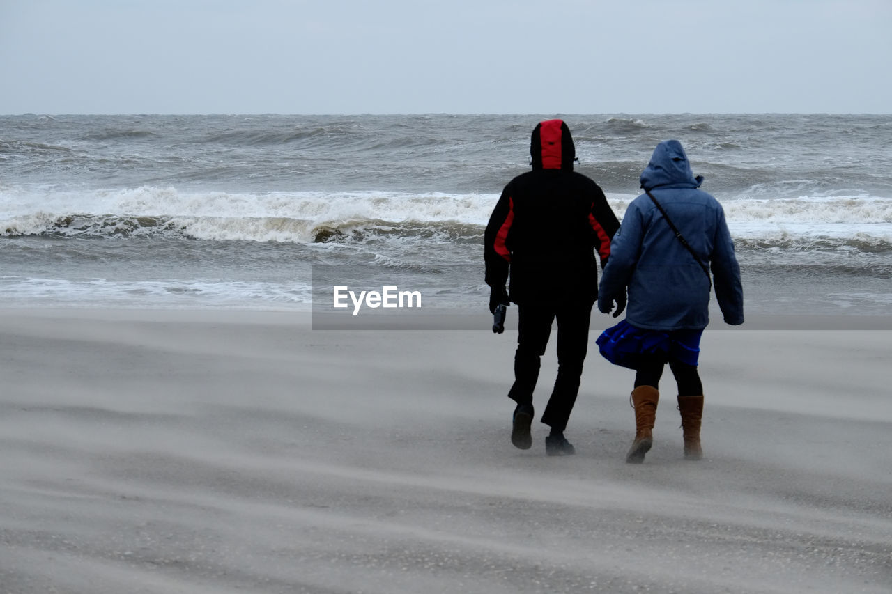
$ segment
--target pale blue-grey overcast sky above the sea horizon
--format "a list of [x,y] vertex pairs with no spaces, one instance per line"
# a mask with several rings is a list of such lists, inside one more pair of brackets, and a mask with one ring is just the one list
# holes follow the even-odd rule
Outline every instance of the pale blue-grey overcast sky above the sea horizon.
[[0,114],[892,112],[892,0],[0,0]]

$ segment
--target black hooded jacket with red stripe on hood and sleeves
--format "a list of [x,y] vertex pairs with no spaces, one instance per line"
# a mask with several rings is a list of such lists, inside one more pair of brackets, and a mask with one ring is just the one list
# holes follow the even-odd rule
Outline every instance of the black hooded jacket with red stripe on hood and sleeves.
[[517,304],[593,302],[598,260],[607,264],[619,222],[601,188],[574,172],[566,123],[537,125],[530,154],[533,170],[508,182],[486,226],[486,284],[505,286],[510,271],[508,293]]

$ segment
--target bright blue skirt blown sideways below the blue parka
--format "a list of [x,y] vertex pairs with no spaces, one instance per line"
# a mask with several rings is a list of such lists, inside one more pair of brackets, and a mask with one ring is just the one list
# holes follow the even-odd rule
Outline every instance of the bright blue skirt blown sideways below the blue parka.
[[601,356],[614,365],[637,369],[642,355],[659,355],[664,362],[681,361],[697,366],[700,336],[696,330],[645,330],[625,320],[607,328],[595,341]]

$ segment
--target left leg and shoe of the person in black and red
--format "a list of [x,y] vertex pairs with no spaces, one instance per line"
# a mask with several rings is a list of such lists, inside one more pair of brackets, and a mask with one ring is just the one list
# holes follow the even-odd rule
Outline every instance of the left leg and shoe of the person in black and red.
[[549,309],[518,306],[517,350],[514,354],[514,384],[508,398],[517,403],[511,423],[511,442],[521,450],[533,446],[533,390],[539,379],[541,356],[549,342],[554,312]]

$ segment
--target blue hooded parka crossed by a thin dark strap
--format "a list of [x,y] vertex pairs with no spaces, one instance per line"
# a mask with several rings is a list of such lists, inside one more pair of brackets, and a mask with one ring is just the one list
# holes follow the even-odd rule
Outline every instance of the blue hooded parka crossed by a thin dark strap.
[[[724,321],[743,324],[743,289],[722,205],[698,187],[681,143],[657,144],[640,177],[699,260],[712,271]],[[614,235],[599,287],[599,309],[628,287],[626,321],[650,330],[701,329],[709,323],[710,279],[681,244],[648,194],[629,204]]]

